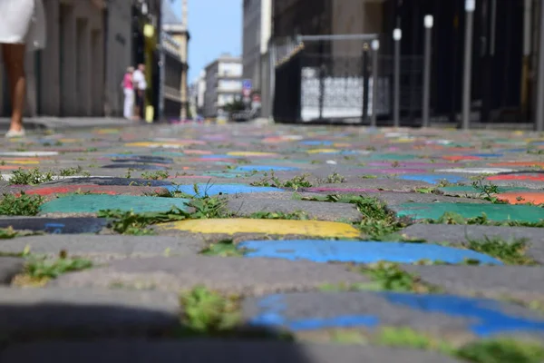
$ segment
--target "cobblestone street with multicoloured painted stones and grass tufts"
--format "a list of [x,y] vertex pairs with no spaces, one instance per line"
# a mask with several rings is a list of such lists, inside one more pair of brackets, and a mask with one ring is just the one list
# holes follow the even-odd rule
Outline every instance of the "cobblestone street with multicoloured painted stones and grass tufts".
[[[26,340],[3,346],[0,360],[59,351],[41,341],[53,330],[91,333],[64,346],[77,352],[106,354],[92,347],[112,333],[124,340],[111,351],[165,337],[132,345],[141,357],[157,359],[161,344],[196,349],[168,338],[184,309],[195,311],[180,290],[199,287],[239,296],[242,328],[304,340],[291,347],[308,363],[460,361],[413,349],[410,334],[453,346],[544,341],[542,142],[529,132],[252,124],[0,141],[0,336]],[[374,340],[386,328],[407,335],[395,340],[406,350],[373,347],[395,345]],[[370,347],[338,345],[331,329]],[[330,348],[312,345],[323,339]]]

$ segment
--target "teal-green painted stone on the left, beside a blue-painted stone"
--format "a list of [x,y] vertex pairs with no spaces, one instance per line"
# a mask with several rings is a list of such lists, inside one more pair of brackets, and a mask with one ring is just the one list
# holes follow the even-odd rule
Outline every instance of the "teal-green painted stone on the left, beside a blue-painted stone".
[[181,198],[139,197],[134,195],[69,195],[48,201],[42,206],[44,213],[95,213],[100,210],[170,211],[178,207],[187,211],[188,200]]

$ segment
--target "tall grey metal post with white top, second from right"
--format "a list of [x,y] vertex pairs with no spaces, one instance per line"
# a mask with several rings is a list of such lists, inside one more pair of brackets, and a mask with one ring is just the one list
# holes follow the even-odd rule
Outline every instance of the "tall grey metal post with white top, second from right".
[[468,130],[471,123],[471,82],[472,82],[472,28],[476,0],[465,0],[465,52],[462,80],[462,130]]

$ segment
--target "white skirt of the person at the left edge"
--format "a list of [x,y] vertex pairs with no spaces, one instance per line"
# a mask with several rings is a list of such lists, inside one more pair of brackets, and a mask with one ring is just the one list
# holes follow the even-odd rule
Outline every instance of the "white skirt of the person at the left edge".
[[26,44],[29,52],[44,49],[42,0],[0,0],[0,44]]

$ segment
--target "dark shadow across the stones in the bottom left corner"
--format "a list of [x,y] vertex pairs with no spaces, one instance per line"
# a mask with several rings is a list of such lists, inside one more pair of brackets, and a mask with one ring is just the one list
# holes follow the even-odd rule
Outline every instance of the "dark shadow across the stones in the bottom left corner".
[[310,363],[273,329],[240,326],[207,338],[181,327],[174,309],[25,302],[0,299],[2,363]]

